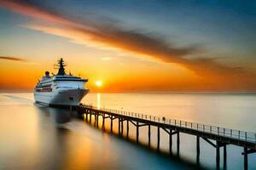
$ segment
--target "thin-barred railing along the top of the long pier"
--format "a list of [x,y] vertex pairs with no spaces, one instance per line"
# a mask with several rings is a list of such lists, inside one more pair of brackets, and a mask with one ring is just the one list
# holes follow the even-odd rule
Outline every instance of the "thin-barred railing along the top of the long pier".
[[196,122],[185,122],[185,121],[170,119],[166,117],[150,116],[150,115],[145,115],[145,114],[130,112],[130,111],[118,111],[113,109],[100,108],[93,105],[84,105],[84,106],[90,109],[98,110],[98,111],[108,111],[113,114],[131,116],[135,118],[148,120],[151,122],[160,122],[160,123],[164,123],[164,124],[172,125],[176,127],[185,127],[185,128],[201,131],[204,133],[212,133],[212,134],[217,134],[218,136],[224,136],[232,139],[240,139],[240,140],[256,143],[256,133],[244,132],[241,130],[224,128],[224,127],[205,125],[205,124],[196,123]]

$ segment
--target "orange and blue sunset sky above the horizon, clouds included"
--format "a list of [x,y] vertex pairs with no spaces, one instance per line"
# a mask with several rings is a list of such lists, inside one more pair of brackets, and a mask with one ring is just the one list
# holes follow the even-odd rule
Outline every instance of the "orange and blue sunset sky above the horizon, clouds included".
[[0,0],[0,92],[32,92],[63,57],[92,92],[254,93],[255,8],[243,0]]

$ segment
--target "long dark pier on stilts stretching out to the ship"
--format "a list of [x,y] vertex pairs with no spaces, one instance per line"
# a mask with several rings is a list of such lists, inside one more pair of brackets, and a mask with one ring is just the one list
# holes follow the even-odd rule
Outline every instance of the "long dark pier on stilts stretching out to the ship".
[[184,122],[166,117],[149,116],[129,111],[117,111],[111,109],[97,108],[92,105],[79,105],[78,111],[85,119],[91,116],[95,118],[95,124],[99,124],[99,116],[102,116],[102,127],[104,128],[105,120],[110,120],[110,132],[113,133],[113,120],[118,119],[119,134],[123,136],[124,122],[126,122],[126,135],[129,136],[129,126],[136,127],[136,141],[139,142],[140,127],[148,127],[148,146],[151,142],[150,128],[157,127],[157,150],[160,150],[160,129],[169,135],[169,149],[172,153],[172,136],[177,135],[177,155],[179,154],[180,133],[187,133],[195,136],[196,139],[196,161],[200,159],[200,141],[205,140],[216,150],[216,167],[219,168],[220,149],[223,148],[224,165],[227,159],[227,144],[234,144],[243,148],[241,153],[244,157],[244,169],[248,168],[248,155],[256,152],[256,133],[249,133],[240,130],[204,125],[196,122]]

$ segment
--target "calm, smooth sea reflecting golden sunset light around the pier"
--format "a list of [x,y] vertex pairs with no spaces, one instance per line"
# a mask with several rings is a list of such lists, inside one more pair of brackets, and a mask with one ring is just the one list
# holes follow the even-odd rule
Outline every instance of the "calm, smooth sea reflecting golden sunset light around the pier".
[[[166,116],[188,122],[256,132],[256,95],[253,94],[88,94],[84,104],[152,116]],[[34,104],[32,94],[0,94],[0,169],[215,169],[215,149],[201,139],[200,164],[196,165],[196,138],[180,134],[177,156],[173,136],[160,131],[160,152],[156,128],[152,127],[151,148],[148,128],[130,124],[125,139],[79,118],[76,111]],[[117,121],[113,123],[117,133]],[[126,127],[126,126],[124,126]],[[124,136],[125,136],[124,128]],[[227,165],[222,169],[243,169],[242,148],[227,145]],[[256,169],[256,154],[248,155],[249,169]]]

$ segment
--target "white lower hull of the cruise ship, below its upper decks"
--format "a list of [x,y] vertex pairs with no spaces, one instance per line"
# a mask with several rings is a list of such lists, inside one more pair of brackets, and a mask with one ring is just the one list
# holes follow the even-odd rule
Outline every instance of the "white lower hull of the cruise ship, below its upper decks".
[[88,89],[59,89],[52,92],[34,92],[36,103],[49,106],[77,106]]

